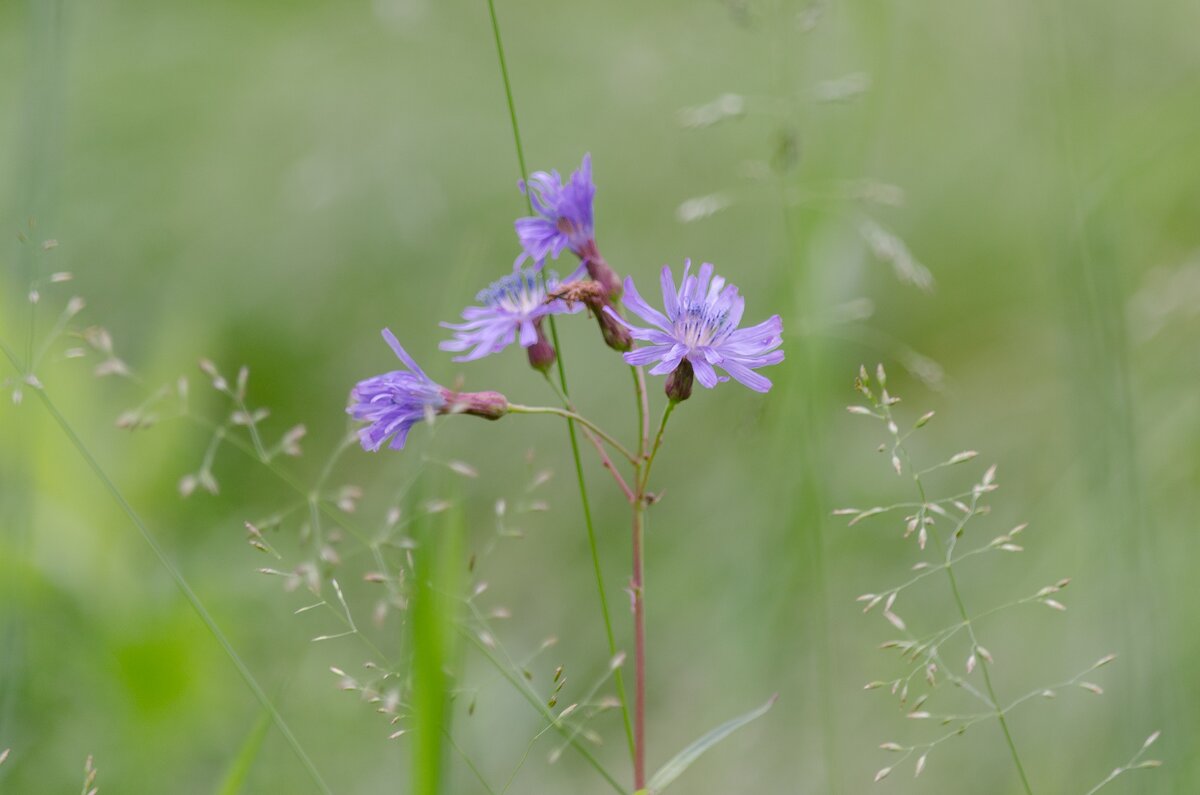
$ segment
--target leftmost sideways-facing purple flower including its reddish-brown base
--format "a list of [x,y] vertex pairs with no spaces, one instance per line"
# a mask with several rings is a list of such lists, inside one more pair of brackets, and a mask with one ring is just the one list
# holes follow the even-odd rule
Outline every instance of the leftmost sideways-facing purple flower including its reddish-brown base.
[[463,413],[499,419],[508,413],[509,401],[504,395],[496,391],[457,393],[446,389],[425,375],[390,329],[383,330],[383,339],[407,370],[394,370],[366,378],[350,390],[350,405],[346,413],[367,423],[359,429],[362,449],[376,452],[388,440],[391,440],[391,449],[402,449],[413,425],[436,414]]

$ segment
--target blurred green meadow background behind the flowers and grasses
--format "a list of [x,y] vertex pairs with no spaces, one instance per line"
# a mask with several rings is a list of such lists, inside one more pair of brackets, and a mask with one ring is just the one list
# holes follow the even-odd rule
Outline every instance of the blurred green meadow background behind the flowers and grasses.
[[[871,784],[889,763],[880,742],[936,734],[862,691],[899,669],[876,648],[894,630],[854,597],[902,581],[918,550],[899,516],[830,518],[912,498],[874,453],[882,429],[842,411],[859,363],[882,361],[898,410],[937,411],[916,455],[972,448],[1000,465],[994,515],[973,538],[1031,522],[1022,556],[965,572],[972,611],[1073,578],[1068,612],[1026,606],[980,626],[1002,700],[1120,654],[1094,675],[1104,697],[1072,691],[1013,715],[1036,791],[1086,791],[1154,729],[1166,765],[1111,791],[1200,791],[1200,6],[502,1],[499,14],[530,168],[566,172],[593,154],[610,263],[653,285],[665,262],[712,261],[742,288],[748,321],[779,312],[787,329],[776,388],[697,394],[660,456],[650,767],[778,692],[679,791],[1018,791],[991,723],[938,746],[919,779],[906,766]],[[311,642],[340,629],[331,614],[292,615],[311,599],[254,572],[271,561],[242,522],[295,495],[224,449],[221,495],[181,500],[205,429],[131,435],[114,420],[186,373],[196,411],[220,422],[227,407],[196,361],[246,364],[268,435],[307,425],[305,456],[284,466],[311,484],[346,431],[349,387],[392,366],[384,325],[443,383],[553,401],[516,351],[474,365],[437,351],[436,323],[510,267],[523,211],[486,4],[4,2],[0,153],[0,339],[24,349],[32,279],[76,275],[42,291],[40,334],[83,295],[82,323],[109,329],[143,383],[95,379],[95,359],[64,361],[59,345],[38,371],[52,400],[334,790],[407,791],[408,741],[389,740],[328,673],[358,675],[370,651]],[[713,196],[724,209],[680,220],[683,203]],[[932,289],[898,279],[878,250],[901,267],[911,252]],[[589,322],[562,333],[581,407],[631,430],[619,360]],[[498,632],[515,656],[556,635],[530,664],[535,685],[563,664],[560,700],[580,698],[607,651],[560,423],[416,429],[402,454],[349,450],[329,484],[362,485],[362,521],[378,524],[422,456],[479,470],[458,491],[474,576],[490,584],[481,599],[512,611]],[[628,647],[626,508],[588,466]],[[494,502],[517,504],[542,468],[550,512],[514,519],[524,538],[484,555]],[[968,486],[982,468],[935,488]],[[418,491],[445,496],[449,482]],[[102,791],[217,791],[259,707],[29,394],[0,407],[0,749],[12,748],[0,790],[73,791],[94,754]],[[271,536],[284,566],[302,560],[301,524]],[[343,568],[370,626],[367,562]],[[941,582],[906,600],[896,610],[923,632],[953,620]],[[367,632],[398,642],[395,616]],[[463,660],[452,731],[499,791],[542,723],[478,654]],[[624,781],[619,719],[592,728]],[[608,791],[570,752],[548,764],[556,745],[533,745],[510,791]],[[457,755],[446,775],[445,791],[486,791]],[[245,791],[312,784],[270,731]]]

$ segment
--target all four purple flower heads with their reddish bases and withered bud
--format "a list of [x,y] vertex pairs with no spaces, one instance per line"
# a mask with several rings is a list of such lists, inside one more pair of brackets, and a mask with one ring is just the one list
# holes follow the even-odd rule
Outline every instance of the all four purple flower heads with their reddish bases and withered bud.
[[[665,390],[672,402],[686,400],[694,381],[708,389],[730,378],[755,391],[770,389],[772,382],[756,370],[784,360],[779,349],[782,322],[775,315],[757,325],[738,328],[745,300],[737,287],[714,274],[710,263],[694,274],[689,261],[678,287],[670,267],[664,265],[662,311],[642,298],[632,279],[622,282],[608,267],[595,240],[590,155],[584,155],[565,183],[557,171],[535,172],[518,187],[535,213],[515,223],[522,252],[512,273],[482,289],[476,304],[462,311],[461,322],[442,324],[452,334],[440,348],[457,353],[455,361],[482,359],[517,343],[530,365],[547,372],[557,354],[542,323],[587,307],[599,322],[605,343],[620,351],[626,363],[653,365],[650,375],[667,376]],[[559,281],[545,269],[545,262],[557,259],[564,250],[580,259],[580,268]],[[532,264],[524,265],[527,261]],[[622,305],[649,327],[622,317]],[[456,393],[437,384],[391,331],[385,329],[383,335],[406,369],[361,381],[350,391],[347,412],[365,423],[359,431],[365,449],[378,450],[389,440],[392,449],[400,449],[413,425],[438,414],[498,419],[510,412],[510,404],[498,393]],[[644,346],[634,347],[634,341]]]

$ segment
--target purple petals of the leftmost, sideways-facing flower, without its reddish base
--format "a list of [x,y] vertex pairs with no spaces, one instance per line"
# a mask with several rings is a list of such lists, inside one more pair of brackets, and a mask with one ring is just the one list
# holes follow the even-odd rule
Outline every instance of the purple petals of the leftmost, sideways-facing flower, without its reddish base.
[[408,370],[360,381],[350,391],[350,405],[346,410],[354,419],[370,423],[359,430],[359,441],[362,449],[371,452],[378,450],[389,438],[391,449],[403,448],[413,425],[446,406],[448,390],[416,366],[389,329],[383,330],[383,339]]

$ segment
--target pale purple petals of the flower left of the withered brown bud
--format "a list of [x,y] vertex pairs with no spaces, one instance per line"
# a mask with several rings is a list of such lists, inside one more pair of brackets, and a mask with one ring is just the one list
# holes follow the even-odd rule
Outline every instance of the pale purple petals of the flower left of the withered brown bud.
[[473,361],[503,351],[514,341],[528,348],[538,342],[538,324],[547,315],[572,315],[582,305],[564,300],[547,300],[558,287],[554,274],[544,275],[523,268],[492,282],[475,297],[481,306],[462,311],[464,323],[443,323],[454,330],[454,339],[439,347],[443,351],[468,351],[455,361]]

